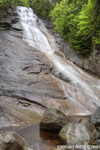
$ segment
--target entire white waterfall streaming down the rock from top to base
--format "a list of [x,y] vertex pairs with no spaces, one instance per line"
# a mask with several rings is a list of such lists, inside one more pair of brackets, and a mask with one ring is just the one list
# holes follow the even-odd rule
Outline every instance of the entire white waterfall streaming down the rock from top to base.
[[44,52],[53,62],[56,72],[69,81],[59,80],[65,93],[69,114],[87,115],[100,106],[100,80],[90,76],[82,69],[54,53],[57,47],[42,21],[31,8],[17,7],[20,23],[23,27],[23,39],[32,47]]

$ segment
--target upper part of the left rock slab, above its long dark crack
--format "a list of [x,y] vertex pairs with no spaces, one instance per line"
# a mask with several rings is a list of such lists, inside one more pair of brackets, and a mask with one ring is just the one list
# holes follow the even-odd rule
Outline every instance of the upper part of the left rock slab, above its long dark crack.
[[0,35],[1,94],[38,101],[44,96],[62,99],[48,58],[28,46],[22,32],[0,31]]

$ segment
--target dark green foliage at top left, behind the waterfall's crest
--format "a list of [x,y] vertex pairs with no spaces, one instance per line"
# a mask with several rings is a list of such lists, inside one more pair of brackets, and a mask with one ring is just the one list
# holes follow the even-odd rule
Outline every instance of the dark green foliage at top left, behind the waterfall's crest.
[[[55,0],[59,2],[60,0]],[[49,0],[0,0],[0,7],[13,6],[25,6],[31,7],[35,10],[37,15],[42,16],[44,19],[49,20],[49,13],[54,7],[54,3],[49,2]]]

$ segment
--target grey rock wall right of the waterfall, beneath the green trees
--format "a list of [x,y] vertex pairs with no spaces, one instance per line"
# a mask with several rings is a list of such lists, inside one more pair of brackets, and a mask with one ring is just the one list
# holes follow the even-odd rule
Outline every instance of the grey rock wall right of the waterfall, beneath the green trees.
[[74,62],[77,66],[100,76],[100,46],[94,45],[91,55],[88,58],[84,58],[79,52],[71,48],[70,42],[64,42],[63,40],[58,42],[57,40],[57,43],[59,44],[60,51],[65,54],[67,59]]

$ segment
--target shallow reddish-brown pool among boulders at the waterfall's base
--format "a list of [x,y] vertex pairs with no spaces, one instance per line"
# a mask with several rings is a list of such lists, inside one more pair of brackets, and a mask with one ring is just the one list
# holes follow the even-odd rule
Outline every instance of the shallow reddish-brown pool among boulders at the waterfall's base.
[[[88,119],[89,116],[71,116],[72,121]],[[26,125],[23,127],[8,127],[0,129],[0,132],[16,131],[21,135],[34,150],[56,150],[58,145],[66,143],[60,139],[58,132],[44,131],[40,129],[39,123]]]

